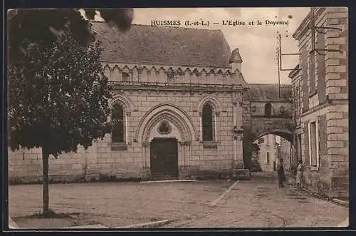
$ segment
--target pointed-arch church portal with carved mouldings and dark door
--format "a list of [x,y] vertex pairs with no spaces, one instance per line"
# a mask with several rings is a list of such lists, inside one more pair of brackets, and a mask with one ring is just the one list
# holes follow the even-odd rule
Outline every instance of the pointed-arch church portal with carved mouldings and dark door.
[[[169,103],[159,104],[147,111],[137,127],[135,136],[145,149],[145,166],[150,167],[151,177],[175,179],[179,168],[186,164],[190,145],[196,132],[187,113]],[[179,143],[179,145],[178,145]],[[147,152],[147,153],[146,153]],[[146,159],[147,158],[147,159]]]

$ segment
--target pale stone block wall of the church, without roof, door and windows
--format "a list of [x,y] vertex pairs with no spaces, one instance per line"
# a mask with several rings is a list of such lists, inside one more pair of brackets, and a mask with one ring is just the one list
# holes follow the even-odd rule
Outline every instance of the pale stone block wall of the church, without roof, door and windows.
[[[172,133],[169,134],[179,141],[178,163],[181,178],[191,175],[230,175],[236,155],[234,145],[237,142],[241,143],[236,145],[238,149],[236,152],[241,168],[243,167],[242,140],[234,144],[232,130],[234,120],[238,127],[250,124],[248,118],[251,116],[251,104],[245,99],[246,89],[238,86],[245,83],[239,71],[231,72],[225,68],[223,73],[221,70],[212,69],[206,75],[205,71],[208,69],[200,68],[198,70],[200,73],[191,73],[194,69],[188,68],[185,72],[177,73],[179,68],[174,68],[177,75],[174,78],[177,81],[174,82],[169,81],[167,76],[169,69],[152,68],[145,71],[146,68],[138,69],[135,65],[121,66],[121,69],[120,66],[110,66],[105,66],[105,73],[110,81],[129,82],[114,86],[112,101],[120,103],[125,111],[125,148],[115,148],[111,134],[107,134],[103,140],[94,140],[88,150],[79,147],[77,153],[63,153],[58,159],[51,156],[49,163],[51,181],[70,182],[91,174],[100,175],[101,178],[150,178],[150,140],[159,134],[155,133],[157,124],[152,123],[148,128],[146,126],[149,126],[150,120],[157,118],[155,112],[160,108],[162,111],[169,110],[178,114],[177,120],[180,119],[181,124],[186,122],[191,125],[191,127],[188,125],[190,130],[189,127],[172,125]],[[130,81],[122,81],[123,71],[130,73]],[[147,85],[142,86],[142,83],[148,81],[165,85],[151,86],[150,89]],[[177,83],[182,84],[178,86]],[[226,89],[224,86],[216,88],[214,85],[206,85],[211,83],[230,87]],[[199,88],[199,85],[204,85],[204,88]],[[231,90],[231,85],[238,88]],[[206,148],[201,142],[201,107],[204,101],[209,101],[214,106],[216,135],[214,148]],[[149,117],[150,120],[146,122],[145,117]],[[145,122],[142,123],[142,119]],[[146,139],[142,138],[145,132]],[[187,134],[189,132],[190,134]],[[186,142],[187,137],[184,135],[187,137],[191,135],[191,140]],[[14,153],[9,150],[10,182],[41,181],[41,159],[41,149],[18,150]]]

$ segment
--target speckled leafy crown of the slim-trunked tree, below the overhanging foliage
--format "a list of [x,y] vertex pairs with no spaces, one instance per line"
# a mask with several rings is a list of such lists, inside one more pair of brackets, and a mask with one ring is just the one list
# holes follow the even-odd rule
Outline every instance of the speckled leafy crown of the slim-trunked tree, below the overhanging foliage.
[[101,51],[99,41],[80,45],[68,28],[9,67],[12,150],[42,147],[56,156],[108,133],[110,86]]

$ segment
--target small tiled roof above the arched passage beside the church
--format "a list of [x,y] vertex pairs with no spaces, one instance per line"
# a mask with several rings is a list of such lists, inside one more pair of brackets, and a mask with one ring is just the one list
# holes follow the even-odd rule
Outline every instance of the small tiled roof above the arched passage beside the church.
[[[251,101],[267,101],[279,99],[278,83],[277,84],[263,84],[250,83],[250,98]],[[292,94],[292,86],[281,84],[281,98],[290,98]]]

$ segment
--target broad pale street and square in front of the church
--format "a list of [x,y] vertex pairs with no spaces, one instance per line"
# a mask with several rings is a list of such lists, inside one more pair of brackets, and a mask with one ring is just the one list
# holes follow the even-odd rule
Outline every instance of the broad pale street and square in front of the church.
[[[50,208],[63,219],[27,219],[41,210],[41,185],[9,187],[9,215],[19,227],[101,224],[122,227],[172,220],[163,227],[333,227],[347,207],[292,186],[278,188],[274,175],[251,180],[190,183],[77,183],[50,185]],[[230,191],[229,191],[230,188]],[[41,221],[41,222],[40,222]]]

